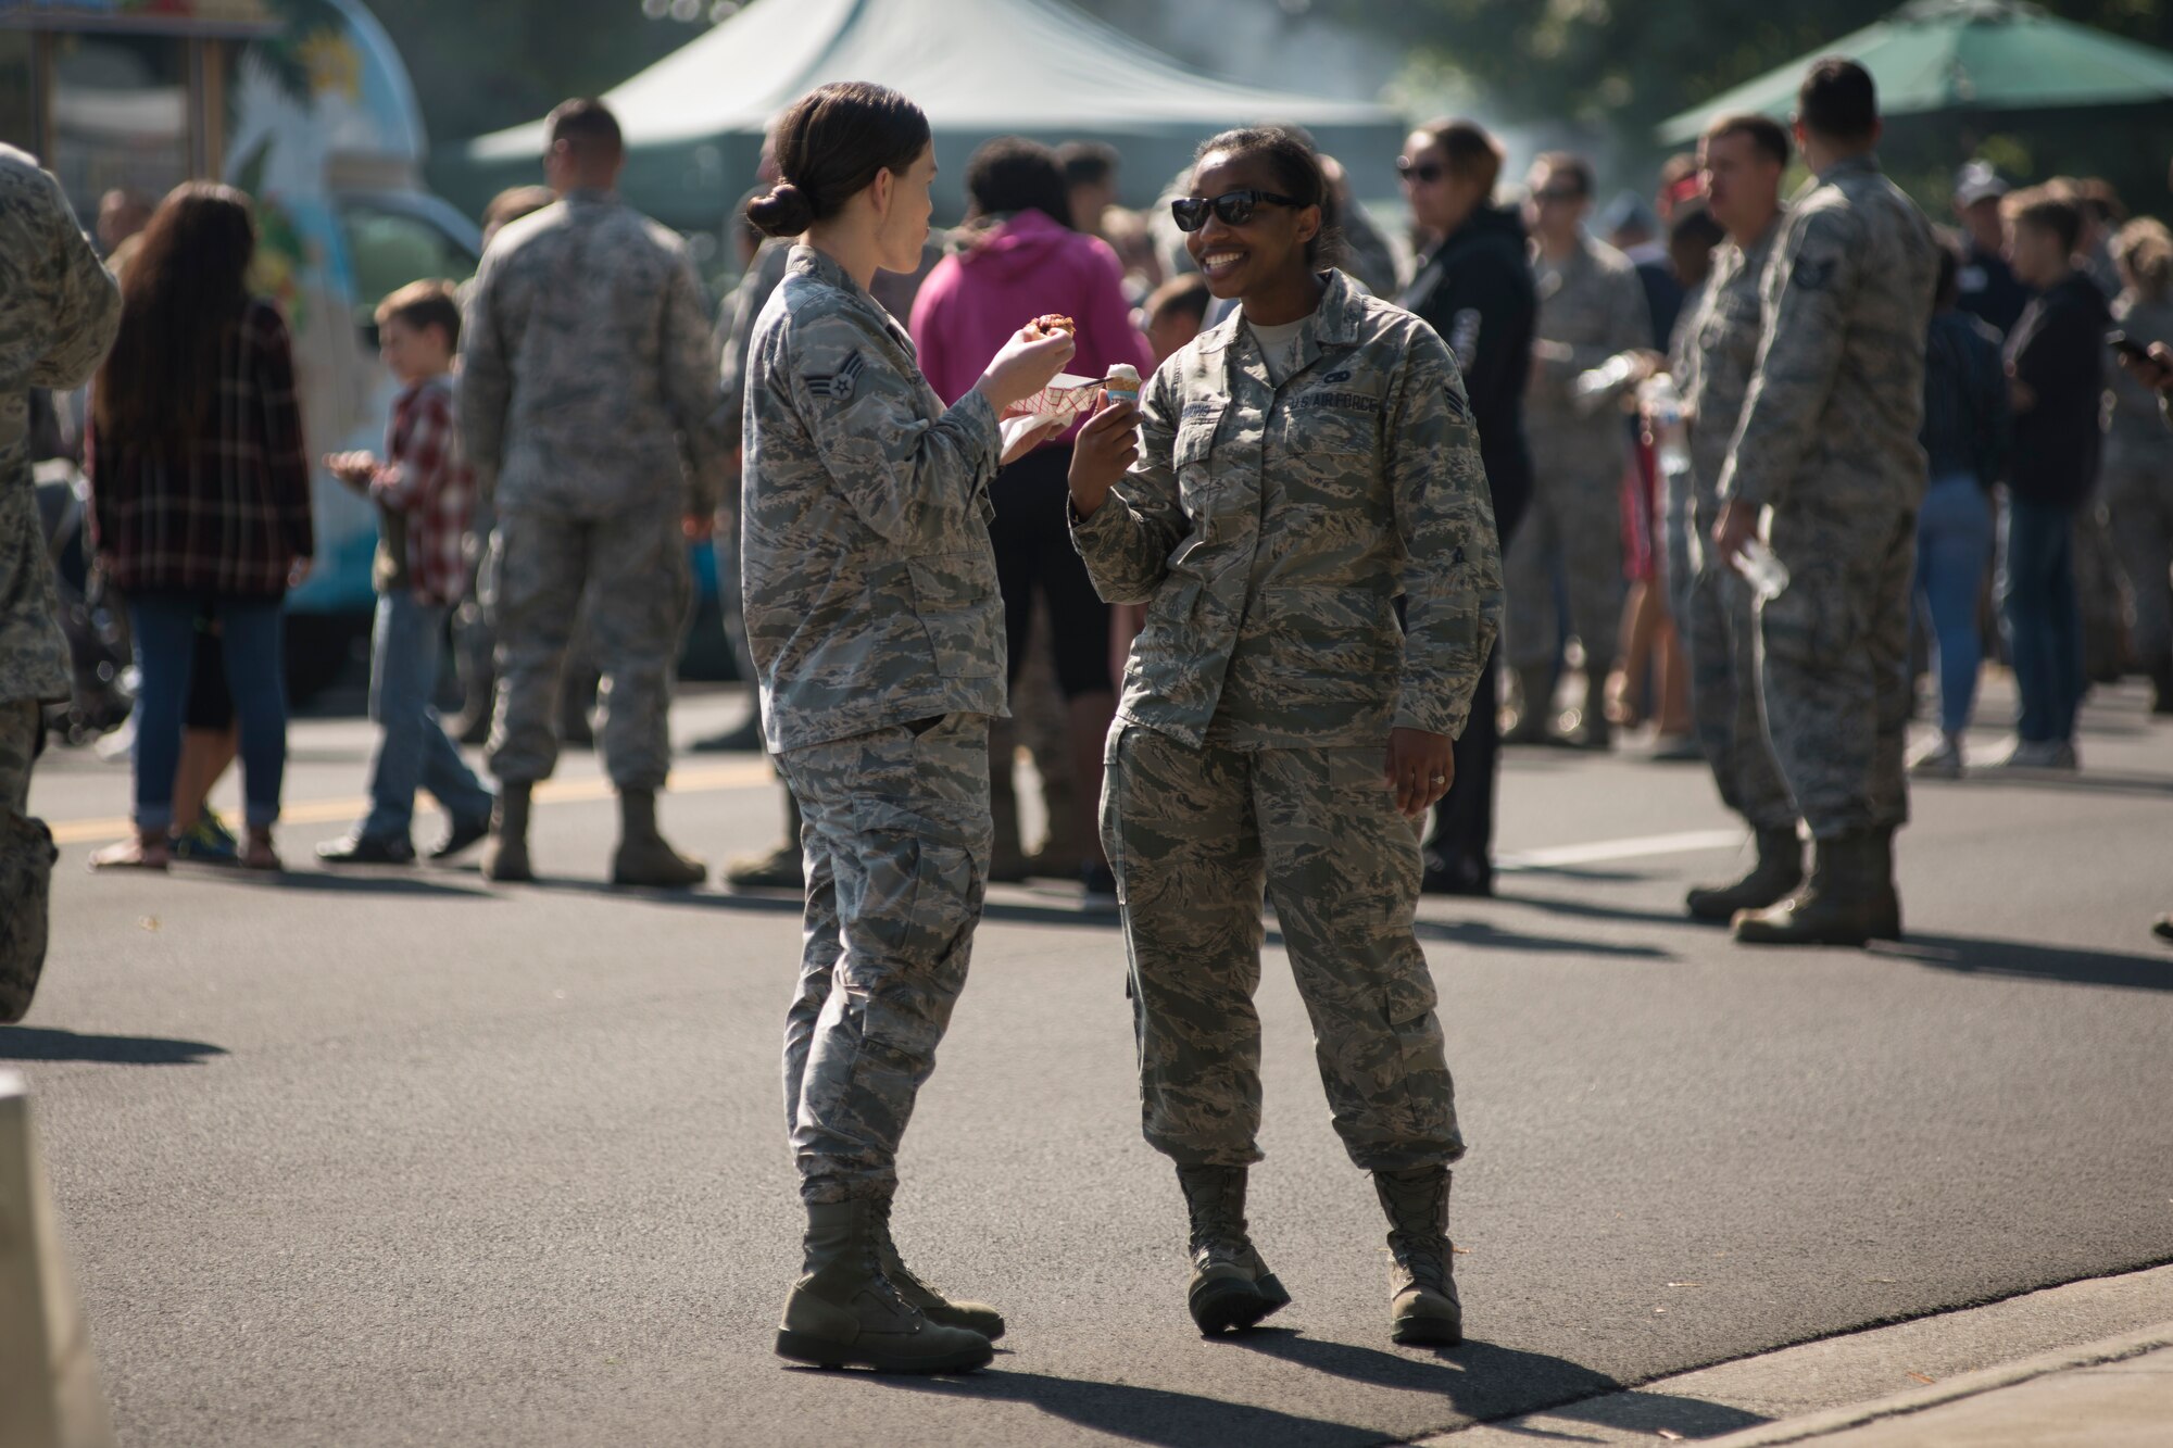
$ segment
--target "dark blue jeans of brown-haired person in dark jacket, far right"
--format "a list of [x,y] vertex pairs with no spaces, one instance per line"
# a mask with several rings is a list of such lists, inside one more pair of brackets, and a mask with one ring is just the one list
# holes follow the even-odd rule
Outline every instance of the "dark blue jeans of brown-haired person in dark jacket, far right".
[[1999,620],[2023,702],[2014,733],[2030,744],[2067,744],[2086,687],[2075,511],[2008,498],[1999,535]]

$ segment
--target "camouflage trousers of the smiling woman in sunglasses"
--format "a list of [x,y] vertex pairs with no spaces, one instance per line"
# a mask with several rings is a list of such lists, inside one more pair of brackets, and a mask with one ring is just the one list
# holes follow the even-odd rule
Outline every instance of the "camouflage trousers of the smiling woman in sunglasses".
[[1419,826],[1380,748],[1186,748],[1110,731],[1102,844],[1132,963],[1147,1144],[1180,1165],[1260,1161],[1260,891],[1312,1018],[1352,1161],[1399,1172],[1465,1154],[1434,978],[1412,933]]

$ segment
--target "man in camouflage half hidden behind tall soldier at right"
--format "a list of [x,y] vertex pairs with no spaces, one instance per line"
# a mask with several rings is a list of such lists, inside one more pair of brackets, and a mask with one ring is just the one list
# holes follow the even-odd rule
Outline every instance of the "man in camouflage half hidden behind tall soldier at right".
[[1738,572],[1717,563],[1710,548],[1721,513],[1714,489],[1758,367],[1758,289],[1780,235],[1788,133],[1762,115],[1730,115],[1706,130],[1699,150],[1708,204],[1728,239],[1712,254],[1712,276],[1680,333],[1691,520],[1688,557],[1669,559],[1669,578],[1691,657],[1697,744],[1712,765],[1721,802],[1743,815],[1758,839],[1758,865],[1743,881],[1688,896],[1693,918],[1730,922],[1736,911],[1780,902],[1804,881],[1795,802],[1758,713],[1758,596]]

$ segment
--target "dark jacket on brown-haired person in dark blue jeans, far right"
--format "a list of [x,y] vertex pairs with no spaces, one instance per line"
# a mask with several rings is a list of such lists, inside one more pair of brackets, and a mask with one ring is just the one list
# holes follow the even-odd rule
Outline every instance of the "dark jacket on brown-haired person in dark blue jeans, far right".
[[2110,324],[2106,294],[2069,272],[2032,298],[2008,333],[2008,367],[2036,394],[2032,407],[2014,411],[2008,491],[2017,498],[2080,507],[2097,485]]

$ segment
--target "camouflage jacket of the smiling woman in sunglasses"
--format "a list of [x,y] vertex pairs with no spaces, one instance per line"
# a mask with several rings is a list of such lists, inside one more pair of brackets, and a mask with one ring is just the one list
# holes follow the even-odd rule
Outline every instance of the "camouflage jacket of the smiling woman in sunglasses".
[[1326,283],[1280,387],[1243,313],[1163,363],[1139,463],[1071,524],[1102,598],[1147,604],[1119,715],[1195,748],[1462,733],[1499,624],[1456,357],[1408,311]]

